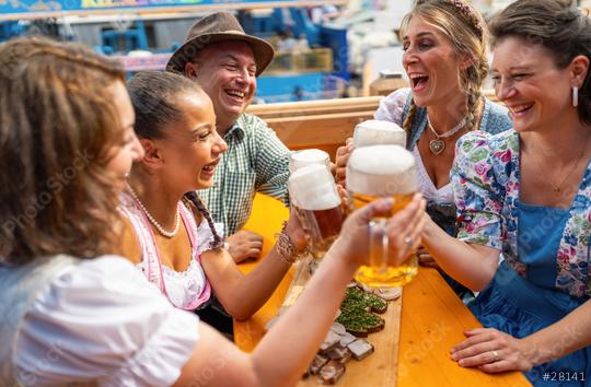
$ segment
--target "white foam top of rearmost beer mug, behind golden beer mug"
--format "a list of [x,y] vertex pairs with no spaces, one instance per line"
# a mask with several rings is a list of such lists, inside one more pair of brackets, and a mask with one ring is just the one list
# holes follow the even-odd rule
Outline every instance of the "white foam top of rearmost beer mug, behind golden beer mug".
[[355,127],[355,148],[385,144],[406,146],[406,131],[394,122],[375,119]]

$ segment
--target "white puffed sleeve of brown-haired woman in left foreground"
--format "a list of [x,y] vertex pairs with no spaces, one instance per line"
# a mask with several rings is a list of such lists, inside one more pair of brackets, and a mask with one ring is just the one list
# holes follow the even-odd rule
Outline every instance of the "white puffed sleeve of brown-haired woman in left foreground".
[[198,318],[174,308],[124,258],[83,261],[34,301],[13,363],[27,386],[170,386],[198,340]]

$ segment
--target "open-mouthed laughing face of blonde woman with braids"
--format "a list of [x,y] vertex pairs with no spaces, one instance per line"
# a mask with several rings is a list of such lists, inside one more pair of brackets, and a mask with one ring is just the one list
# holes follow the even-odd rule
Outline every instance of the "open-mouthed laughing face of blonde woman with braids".
[[459,93],[459,56],[441,30],[419,16],[413,17],[403,37],[403,66],[418,106],[444,103]]

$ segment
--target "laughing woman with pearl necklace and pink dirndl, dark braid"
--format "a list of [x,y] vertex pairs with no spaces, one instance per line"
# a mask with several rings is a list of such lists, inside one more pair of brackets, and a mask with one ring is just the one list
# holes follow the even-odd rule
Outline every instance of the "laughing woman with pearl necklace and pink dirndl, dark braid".
[[195,194],[213,184],[227,150],[208,95],[184,77],[155,71],[138,73],[128,90],[146,154],[134,165],[123,196],[127,227],[121,255],[173,305],[200,308],[212,291],[231,316],[248,318],[305,247],[297,219],[290,219],[266,259],[242,274]]

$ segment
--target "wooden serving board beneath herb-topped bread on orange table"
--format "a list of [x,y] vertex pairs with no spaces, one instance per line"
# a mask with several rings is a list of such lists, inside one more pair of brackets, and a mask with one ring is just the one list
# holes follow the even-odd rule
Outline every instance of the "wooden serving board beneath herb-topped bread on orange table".
[[[293,281],[286,295],[283,306],[291,306],[303,291],[310,279],[310,260],[302,259],[297,268]],[[395,387],[398,372],[398,339],[401,333],[402,296],[389,302],[387,310],[382,316],[385,327],[382,331],[370,333],[367,341],[374,347],[374,352],[362,361],[351,359],[345,364],[345,375],[337,382],[341,387]],[[311,375],[298,384],[299,387],[318,386],[318,377]]]

